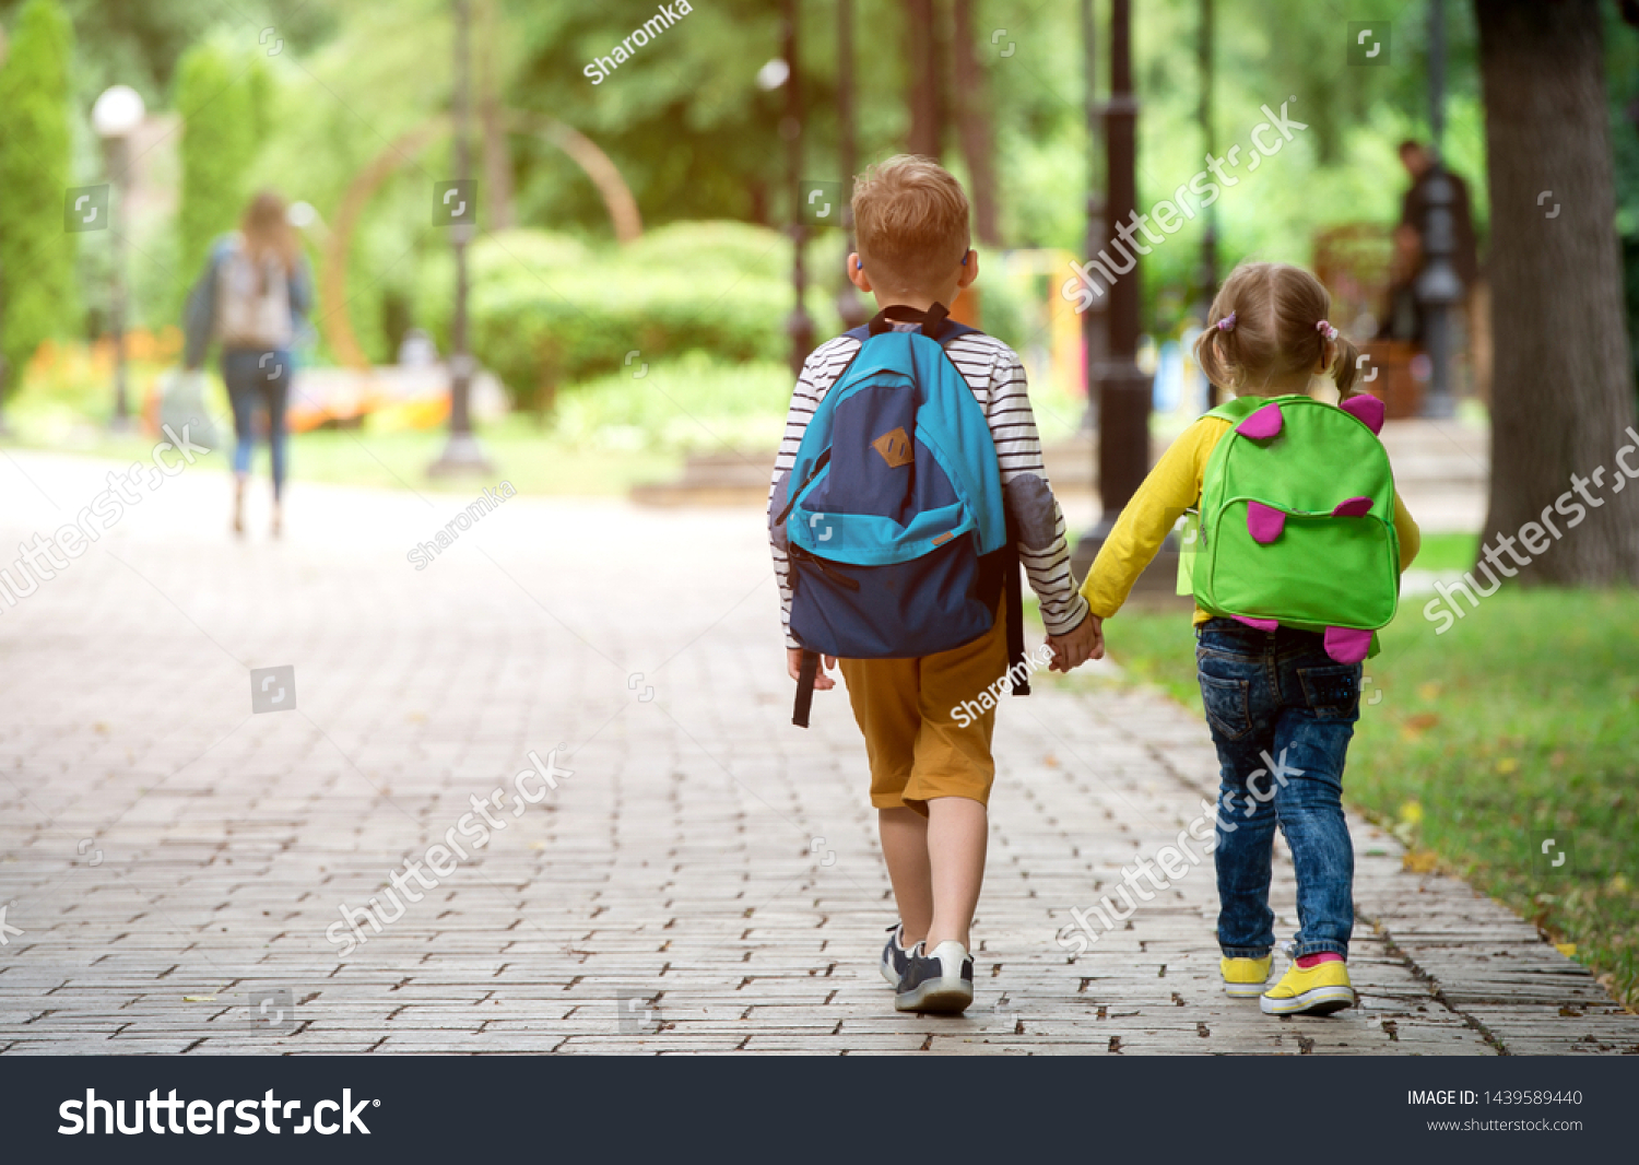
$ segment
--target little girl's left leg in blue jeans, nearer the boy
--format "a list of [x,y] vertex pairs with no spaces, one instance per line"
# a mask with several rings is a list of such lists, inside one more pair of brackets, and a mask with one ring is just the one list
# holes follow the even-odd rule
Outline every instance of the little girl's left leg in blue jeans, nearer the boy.
[[[1196,669],[1201,703],[1218,749],[1218,945],[1226,959],[1262,959],[1275,945],[1269,909],[1275,845],[1274,783],[1264,764],[1275,741],[1265,632],[1201,631]],[[1265,772],[1260,772],[1265,770]]]

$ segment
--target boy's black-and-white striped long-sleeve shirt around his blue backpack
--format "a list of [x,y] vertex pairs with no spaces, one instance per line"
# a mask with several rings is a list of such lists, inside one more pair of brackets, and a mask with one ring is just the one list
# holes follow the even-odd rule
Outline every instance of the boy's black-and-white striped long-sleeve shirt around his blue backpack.
[[[916,324],[895,324],[897,331],[913,331]],[[860,341],[838,336],[816,347],[803,362],[792,393],[792,408],[785,418],[785,437],[774,460],[774,482],[769,487],[772,505],[780,478],[797,462],[797,447],[803,441],[808,421],[813,418],[826,392],[838,382],[849,360],[859,351]],[[1087,600],[1075,590],[1070,575],[1070,546],[1064,533],[1064,511],[1047,485],[1047,470],[1041,460],[1041,437],[1036,434],[1036,415],[1029,406],[1024,383],[1024,365],[1018,354],[993,336],[972,333],[946,344],[957,372],[974,390],[974,398],[985,411],[990,436],[997,444],[997,460],[1001,465],[1001,488],[1008,515],[1019,533],[1018,551],[1029,577],[1031,590],[1041,600],[1041,619],[1047,634],[1072,631],[1087,618]],[[780,619],[785,624],[785,646],[800,647],[792,637],[792,583],[790,562],[785,549],[772,537],[774,575],[780,583]]]

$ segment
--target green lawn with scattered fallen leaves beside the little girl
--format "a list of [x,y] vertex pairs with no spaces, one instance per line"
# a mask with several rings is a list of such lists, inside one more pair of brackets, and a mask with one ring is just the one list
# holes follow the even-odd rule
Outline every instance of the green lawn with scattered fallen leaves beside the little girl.
[[[1123,613],[1105,637],[1129,682],[1200,713],[1187,613]],[[1575,944],[1573,957],[1629,1008],[1639,1006],[1636,662],[1639,592],[1505,588],[1442,636],[1406,606],[1365,665],[1346,780],[1354,808]],[[1546,837],[1569,854],[1559,868],[1541,852]]]

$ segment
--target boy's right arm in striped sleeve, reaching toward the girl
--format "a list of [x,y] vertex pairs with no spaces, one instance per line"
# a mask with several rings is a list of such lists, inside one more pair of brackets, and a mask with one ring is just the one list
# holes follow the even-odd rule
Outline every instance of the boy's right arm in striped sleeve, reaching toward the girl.
[[1041,600],[1041,621],[1049,636],[1064,636],[1087,618],[1087,600],[1075,592],[1075,578],[1070,575],[1064,511],[1047,483],[1024,365],[1006,346],[997,351],[990,369],[985,419],[990,421],[990,436],[997,444],[1008,516],[1018,529],[1019,560],[1031,590]]

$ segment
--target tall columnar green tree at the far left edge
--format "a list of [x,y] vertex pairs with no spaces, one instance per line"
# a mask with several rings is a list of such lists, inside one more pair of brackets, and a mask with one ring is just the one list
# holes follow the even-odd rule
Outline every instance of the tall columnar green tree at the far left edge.
[[74,29],[56,0],[18,13],[0,69],[0,359],[5,390],[43,339],[74,329],[69,185],[69,61]]

